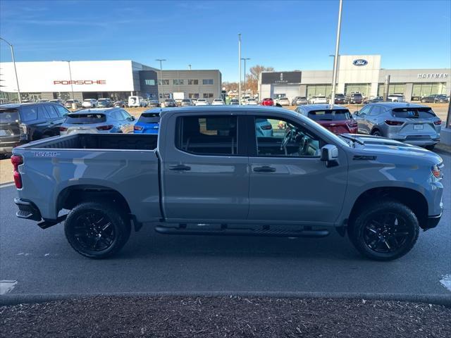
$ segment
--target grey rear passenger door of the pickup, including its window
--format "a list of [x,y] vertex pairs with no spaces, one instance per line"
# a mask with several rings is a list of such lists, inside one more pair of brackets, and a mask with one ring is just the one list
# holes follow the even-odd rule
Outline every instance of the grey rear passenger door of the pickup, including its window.
[[162,191],[169,222],[233,223],[247,218],[248,157],[241,145],[245,142],[238,138],[238,120],[230,114],[173,115],[166,123],[172,132],[160,130],[167,145]]

